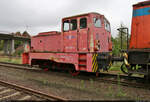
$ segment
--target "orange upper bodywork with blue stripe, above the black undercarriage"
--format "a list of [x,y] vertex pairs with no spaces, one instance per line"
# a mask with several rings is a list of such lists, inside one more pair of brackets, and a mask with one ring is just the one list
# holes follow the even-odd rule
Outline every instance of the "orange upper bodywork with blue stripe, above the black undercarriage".
[[130,49],[150,48],[150,1],[133,5]]

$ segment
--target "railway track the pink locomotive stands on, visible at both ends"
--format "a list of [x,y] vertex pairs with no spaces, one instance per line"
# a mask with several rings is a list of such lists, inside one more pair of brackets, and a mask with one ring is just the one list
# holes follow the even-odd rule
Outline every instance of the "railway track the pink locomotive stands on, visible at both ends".
[[[16,69],[23,69],[23,70],[43,70],[39,68],[31,68],[24,65],[19,64],[12,64],[12,63],[5,63],[0,62],[0,66],[5,66],[9,68],[16,68]],[[87,73],[86,73],[87,74]],[[89,78],[92,78],[94,81],[98,82],[104,82],[104,83],[110,83],[110,84],[117,84],[122,86],[128,86],[128,87],[136,87],[136,88],[142,88],[142,89],[150,89],[150,83],[147,83],[144,78],[141,77],[128,77],[126,75],[116,75],[116,74],[108,74],[108,73],[101,73],[100,77],[96,77],[95,74],[88,74],[81,73],[81,77],[84,80],[89,80]],[[76,78],[79,78],[78,76]]]

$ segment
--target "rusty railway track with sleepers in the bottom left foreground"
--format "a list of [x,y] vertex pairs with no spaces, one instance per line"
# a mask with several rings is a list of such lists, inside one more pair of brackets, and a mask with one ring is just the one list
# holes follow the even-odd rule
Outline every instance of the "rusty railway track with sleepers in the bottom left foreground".
[[30,88],[0,80],[0,101],[3,100],[53,100],[67,101],[64,98],[45,94]]

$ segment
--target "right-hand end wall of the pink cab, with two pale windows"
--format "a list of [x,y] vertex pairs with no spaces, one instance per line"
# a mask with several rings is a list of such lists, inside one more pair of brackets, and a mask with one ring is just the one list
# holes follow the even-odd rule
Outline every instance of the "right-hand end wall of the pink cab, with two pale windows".
[[93,26],[95,35],[95,51],[108,52],[109,43],[111,42],[110,26],[104,17],[99,15],[93,16]]

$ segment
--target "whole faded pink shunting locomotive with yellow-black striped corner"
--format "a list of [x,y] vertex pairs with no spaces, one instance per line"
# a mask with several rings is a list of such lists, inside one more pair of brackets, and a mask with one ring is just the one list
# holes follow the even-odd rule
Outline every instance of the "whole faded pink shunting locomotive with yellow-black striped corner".
[[104,15],[87,13],[62,19],[61,32],[43,32],[31,39],[23,64],[99,72],[111,64],[111,29]]

